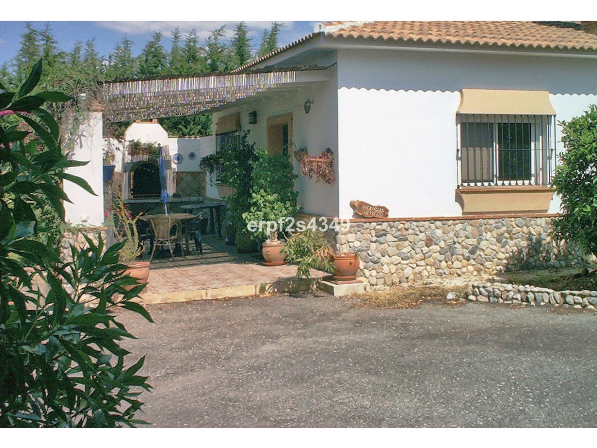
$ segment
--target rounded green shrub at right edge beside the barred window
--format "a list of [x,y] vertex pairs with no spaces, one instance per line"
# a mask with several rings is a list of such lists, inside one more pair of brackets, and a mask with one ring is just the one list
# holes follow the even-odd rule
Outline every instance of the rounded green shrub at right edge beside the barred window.
[[597,255],[597,107],[560,125],[566,151],[553,178],[562,200],[553,234]]

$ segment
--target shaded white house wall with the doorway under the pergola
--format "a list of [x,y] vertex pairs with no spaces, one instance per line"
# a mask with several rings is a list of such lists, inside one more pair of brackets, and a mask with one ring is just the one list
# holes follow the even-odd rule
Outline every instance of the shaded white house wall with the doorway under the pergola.
[[[309,155],[318,154],[330,148],[337,154],[337,78],[336,69],[330,70],[328,81],[313,82],[308,86],[285,92],[272,92],[271,96],[258,97],[242,105],[235,105],[225,111],[214,113],[214,129],[220,116],[241,112],[241,129],[250,130],[249,140],[257,147],[267,148],[267,118],[293,114],[293,148],[307,148]],[[314,103],[310,112],[304,112],[304,102]],[[248,123],[248,113],[257,111],[257,123]],[[214,147],[215,148],[215,147]],[[292,158],[294,172],[298,174],[296,189],[298,204],[305,213],[324,216],[338,214],[338,183],[328,185],[308,179],[300,172],[300,163]],[[337,158],[334,169],[337,172]],[[209,188],[209,185],[208,185]]]

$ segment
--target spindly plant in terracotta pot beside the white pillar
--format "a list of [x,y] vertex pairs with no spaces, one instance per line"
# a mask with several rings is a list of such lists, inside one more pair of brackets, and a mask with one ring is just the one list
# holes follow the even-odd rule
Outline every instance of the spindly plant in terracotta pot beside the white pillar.
[[[113,225],[116,239],[124,241],[119,252],[119,259],[123,265],[127,265],[124,274],[137,279],[139,284],[147,283],[149,279],[149,262],[137,261],[137,257],[143,253],[144,247],[139,241],[139,232],[137,231],[137,220],[141,213],[133,217],[122,201],[114,205],[116,220]],[[125,286],[127,290],[133,289],[136,285]]]

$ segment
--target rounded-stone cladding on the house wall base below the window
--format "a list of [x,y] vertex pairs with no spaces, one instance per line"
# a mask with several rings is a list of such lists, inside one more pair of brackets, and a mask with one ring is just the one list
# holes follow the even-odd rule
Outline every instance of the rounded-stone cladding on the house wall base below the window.
[[584,264],[584,254],[549,236],[550,217],[351,222],[343,251],[358,252],[359,276],[392,285],[467,273]]

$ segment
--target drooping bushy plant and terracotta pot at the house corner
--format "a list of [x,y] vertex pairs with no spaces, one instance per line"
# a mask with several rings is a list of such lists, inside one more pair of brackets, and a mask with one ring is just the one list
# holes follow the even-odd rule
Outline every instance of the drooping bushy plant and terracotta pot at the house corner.
[[[337,244],[335,245],[337,247]],[[298,263],[297,278],[310,276],[310,269],[333,274],[334,280],[356,280],[360,259],[357,253],[343,253],[325,239],[323,232],[307,229],[288,238],[282,250],[290,263]]]

